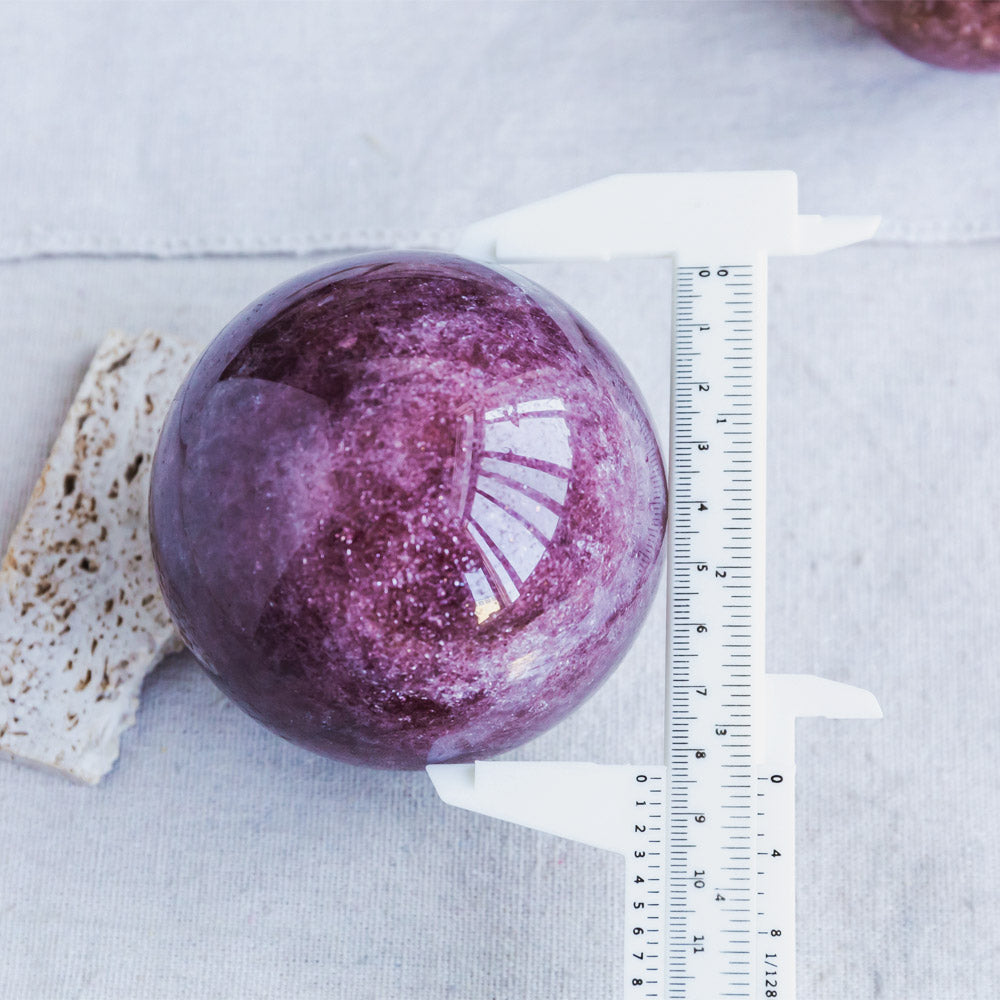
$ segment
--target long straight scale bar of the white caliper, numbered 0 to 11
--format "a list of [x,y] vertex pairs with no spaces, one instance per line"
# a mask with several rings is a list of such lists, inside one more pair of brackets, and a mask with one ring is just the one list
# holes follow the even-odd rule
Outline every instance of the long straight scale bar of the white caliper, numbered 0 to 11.
[[765,258],[676,262],[668,540],[670,1000],[757,983]]

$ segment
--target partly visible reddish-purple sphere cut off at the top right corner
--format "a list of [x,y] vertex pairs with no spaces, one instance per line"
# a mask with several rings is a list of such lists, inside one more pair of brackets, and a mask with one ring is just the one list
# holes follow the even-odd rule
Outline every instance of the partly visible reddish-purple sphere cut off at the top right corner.
[[915,59],[1000,70],[1000,0],[850,0],[858,18]]

